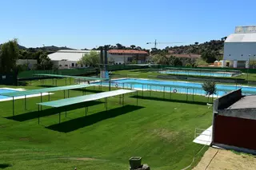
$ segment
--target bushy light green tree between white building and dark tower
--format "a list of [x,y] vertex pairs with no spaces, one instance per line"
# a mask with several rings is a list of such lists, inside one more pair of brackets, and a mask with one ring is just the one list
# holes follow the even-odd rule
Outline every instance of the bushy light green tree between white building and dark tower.
[[99,53],[96,51],[90,51],[90,53],[85,53],[78,63],[95,67],[99,64],[99,57]]

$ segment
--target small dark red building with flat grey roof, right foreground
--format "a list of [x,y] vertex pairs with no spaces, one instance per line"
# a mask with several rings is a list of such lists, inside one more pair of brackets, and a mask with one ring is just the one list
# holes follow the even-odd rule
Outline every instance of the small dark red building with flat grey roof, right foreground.
[[234,90],[214,101],[212,144],[221,148],[256,151],[256,95]]

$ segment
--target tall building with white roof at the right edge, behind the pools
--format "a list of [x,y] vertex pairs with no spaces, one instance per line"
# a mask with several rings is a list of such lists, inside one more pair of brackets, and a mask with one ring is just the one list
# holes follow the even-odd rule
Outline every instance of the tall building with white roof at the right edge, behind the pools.
[[250,61],[256,61],[256,26],[236,26],[224,42],[222,67],[226,61],[234,68],[249,68]]

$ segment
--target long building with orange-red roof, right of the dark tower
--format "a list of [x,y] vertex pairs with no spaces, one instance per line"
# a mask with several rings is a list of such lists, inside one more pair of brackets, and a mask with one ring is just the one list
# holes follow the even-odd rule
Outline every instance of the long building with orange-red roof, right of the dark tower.
[[149,53],[135,49],[110,49],[108,50],[109,61],[116,64],[127,64],[136,61],[138,64],[145,63]]

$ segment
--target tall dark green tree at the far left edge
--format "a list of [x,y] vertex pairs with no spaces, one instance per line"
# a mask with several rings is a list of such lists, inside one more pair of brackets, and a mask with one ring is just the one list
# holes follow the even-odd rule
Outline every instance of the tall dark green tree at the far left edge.
[[2,44],[0,53],[0,73],[10,73],[16,69],[18,53],[17,39]]

